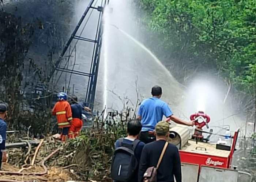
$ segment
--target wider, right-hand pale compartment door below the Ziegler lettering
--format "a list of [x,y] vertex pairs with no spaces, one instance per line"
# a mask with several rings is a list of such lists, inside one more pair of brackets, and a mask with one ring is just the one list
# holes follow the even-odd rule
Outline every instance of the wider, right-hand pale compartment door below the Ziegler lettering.
[[238,171],[218,167],[201,166],[199,174],[199,182],[237,182],[237,179]]

